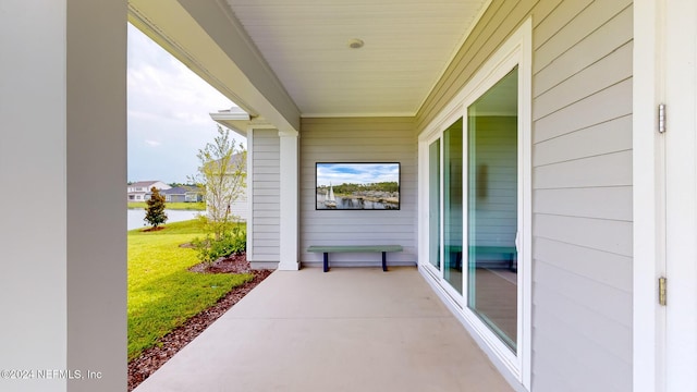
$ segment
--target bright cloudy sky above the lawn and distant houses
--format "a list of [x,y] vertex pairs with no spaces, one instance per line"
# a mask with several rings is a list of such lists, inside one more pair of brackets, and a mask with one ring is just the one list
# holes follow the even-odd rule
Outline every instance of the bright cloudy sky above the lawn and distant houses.
[[[129,24],[129,181],[186,183],[233,103]],[[231,137],[245,142],[234,132]],[[246,143],[245,143],[246,145]]]

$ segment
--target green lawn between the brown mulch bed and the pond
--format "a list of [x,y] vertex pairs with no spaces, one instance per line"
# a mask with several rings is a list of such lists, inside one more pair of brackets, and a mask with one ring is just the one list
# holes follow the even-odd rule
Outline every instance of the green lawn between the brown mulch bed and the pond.
[[187,269],[196,252],[179,245],[201,235],[198,220],[169,223],[164,230],[129,232],[129,360],[192,316],[213,305],[246,274],[204,274]]

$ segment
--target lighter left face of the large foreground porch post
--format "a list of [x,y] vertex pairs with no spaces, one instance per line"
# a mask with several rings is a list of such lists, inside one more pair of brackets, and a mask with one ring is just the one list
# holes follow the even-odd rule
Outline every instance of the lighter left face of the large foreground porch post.
[[[66,0],[0,10],[0,176],[15,189],[0,195],[15,206],[0,224],[0,370],[66,369]],[[0,377],[0,391],[65,390],[64,379]]]

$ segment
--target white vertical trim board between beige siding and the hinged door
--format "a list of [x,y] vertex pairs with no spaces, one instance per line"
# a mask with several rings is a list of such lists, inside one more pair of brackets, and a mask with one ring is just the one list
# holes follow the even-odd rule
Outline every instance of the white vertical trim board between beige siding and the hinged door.
[[665,311],[658,305],[657,279],[665,273],[664,198],[659,192],[663,139],[657,108],[664,99],[662,33],[664,1],[634,2],[633,187],[634,187],[634,390],[664,391],[659,357],[663,356]]

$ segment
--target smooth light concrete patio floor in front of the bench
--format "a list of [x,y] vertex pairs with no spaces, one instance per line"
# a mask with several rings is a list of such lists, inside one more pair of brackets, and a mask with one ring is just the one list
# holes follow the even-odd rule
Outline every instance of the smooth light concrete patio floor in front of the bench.
[[414,267],[276,271],[135,391],[512,391]]

